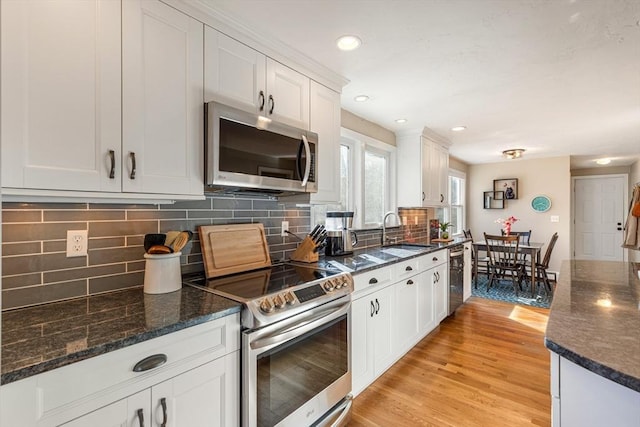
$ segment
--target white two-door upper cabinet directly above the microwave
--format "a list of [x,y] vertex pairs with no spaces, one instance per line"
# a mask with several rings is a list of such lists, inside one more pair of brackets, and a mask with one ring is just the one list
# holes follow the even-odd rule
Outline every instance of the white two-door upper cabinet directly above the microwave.
[[307,76],[213,28],[205,29],[205,100],[309,128]]

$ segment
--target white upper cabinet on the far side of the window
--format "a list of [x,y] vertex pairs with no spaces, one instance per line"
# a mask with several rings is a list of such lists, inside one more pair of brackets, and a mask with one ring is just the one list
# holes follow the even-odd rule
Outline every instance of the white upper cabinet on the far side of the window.
[[449,204],[449,145],[428,128],[398,137],[398,206]]

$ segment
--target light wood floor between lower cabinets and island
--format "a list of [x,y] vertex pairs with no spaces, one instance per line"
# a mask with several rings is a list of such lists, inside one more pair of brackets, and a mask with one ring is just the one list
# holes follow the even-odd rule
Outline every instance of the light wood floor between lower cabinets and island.
[[349,427],[551,425],[547,316],[471,297],[355,399]]

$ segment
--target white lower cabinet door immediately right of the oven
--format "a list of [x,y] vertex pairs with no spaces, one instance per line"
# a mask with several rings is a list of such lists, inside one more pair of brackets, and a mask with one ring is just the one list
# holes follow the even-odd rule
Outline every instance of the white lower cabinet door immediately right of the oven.
[[351,384],[354,394],[373,382],[373,316],[375,300],[359,298],[351,304]]

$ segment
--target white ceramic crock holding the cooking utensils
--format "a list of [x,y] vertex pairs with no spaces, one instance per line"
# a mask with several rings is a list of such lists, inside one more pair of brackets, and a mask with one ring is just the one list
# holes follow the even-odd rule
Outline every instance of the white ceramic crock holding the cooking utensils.
[[164,294],[175,292],[182,287],[180,255],[182,252],[144,254],[146,259],[144,268],[145,293]]

